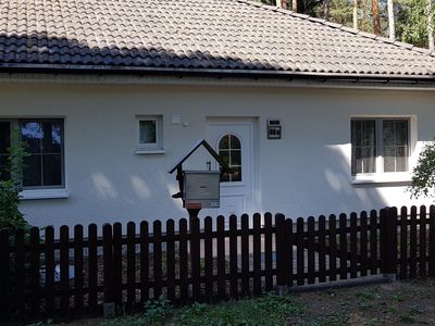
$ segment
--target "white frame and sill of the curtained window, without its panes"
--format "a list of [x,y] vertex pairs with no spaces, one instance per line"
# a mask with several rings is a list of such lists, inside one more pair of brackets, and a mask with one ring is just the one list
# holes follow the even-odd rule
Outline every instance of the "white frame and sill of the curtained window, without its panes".
[[[417,145],[417,116],[415,115],[356,115],[352,120],[374,120],[376,130],[376,158],[375,173],[358,173],[351,174],[352,151],[350,142],[349,172],[351,184],[387,184],[387,183],[405,183],[411,180],[411,171],[413,165],[412,153]],[[385,120],[408,120],[408,171],[407,172],[384,172],[384,153],[383,153],[383,121]],[[349,136],[351,135],[351,123],[349,123]]]

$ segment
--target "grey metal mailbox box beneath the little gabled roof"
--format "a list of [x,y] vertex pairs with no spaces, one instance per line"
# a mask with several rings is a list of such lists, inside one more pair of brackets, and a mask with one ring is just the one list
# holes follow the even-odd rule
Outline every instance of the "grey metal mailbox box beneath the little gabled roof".
[[184,171],[184,206],[186,209],[219,209],[219,171]]

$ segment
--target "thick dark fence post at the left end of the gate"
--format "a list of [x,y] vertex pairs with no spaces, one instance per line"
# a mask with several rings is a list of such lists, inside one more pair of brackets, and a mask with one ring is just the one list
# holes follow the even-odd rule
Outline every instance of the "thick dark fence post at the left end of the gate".
[[276,289],[279,296],[287,294],[289,284],[289,252],[286,241],[286,223],[283,214],[275,215],[276,241]]

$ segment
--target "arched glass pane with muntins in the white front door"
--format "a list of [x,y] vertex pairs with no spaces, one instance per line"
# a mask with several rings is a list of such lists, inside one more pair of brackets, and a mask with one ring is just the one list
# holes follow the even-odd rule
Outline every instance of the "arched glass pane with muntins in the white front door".
[[234,135],[225,135],[219,141],[219,155],[233,170],[233,174],[224,173],[221,183],[241,181],[241,143]]

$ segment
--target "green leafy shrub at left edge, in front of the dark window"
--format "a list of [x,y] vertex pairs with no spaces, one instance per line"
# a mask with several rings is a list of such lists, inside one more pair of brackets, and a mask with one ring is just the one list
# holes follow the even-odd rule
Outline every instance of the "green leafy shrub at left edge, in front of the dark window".
[[7,166],[0,171],[0,229],[8,228],[11,233],[16,228],[29,228],[18,209],[24,159],[28,156],[27,147],[18,141],[18,135],[17,130],[13,133]]

